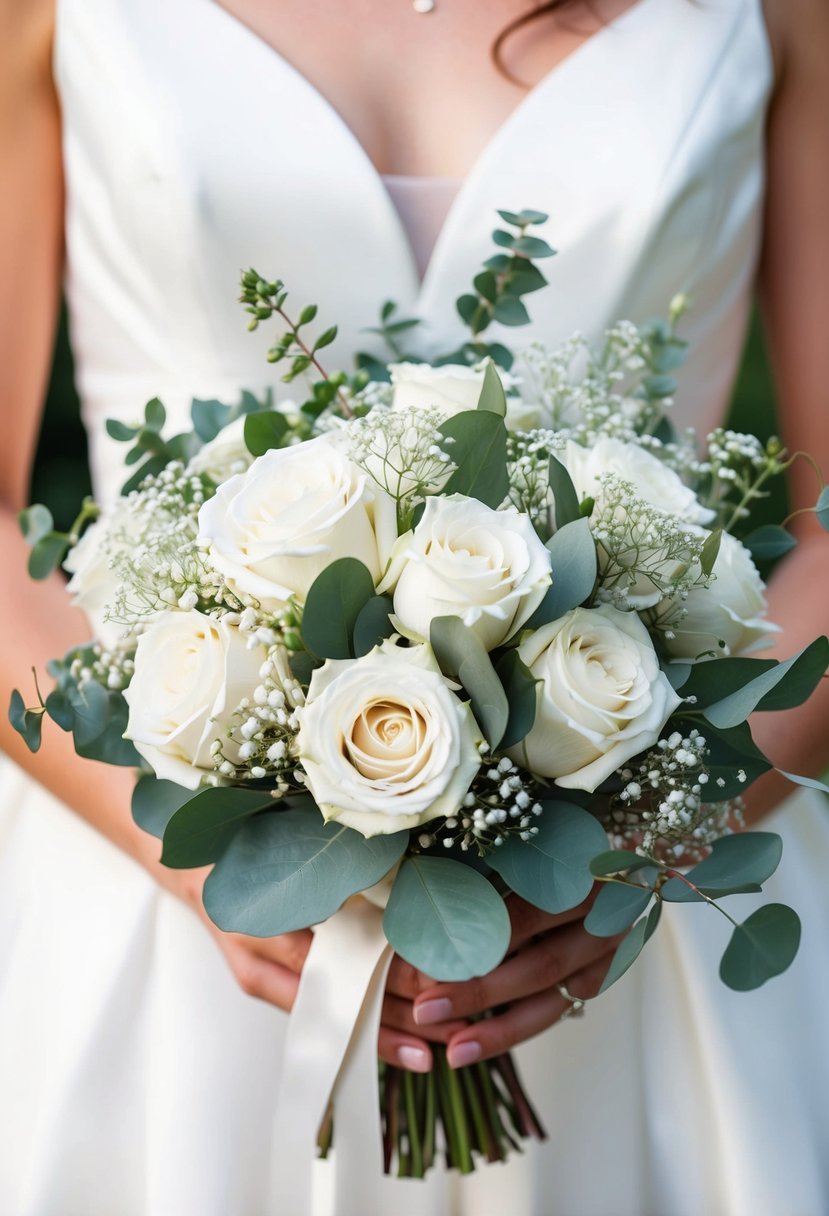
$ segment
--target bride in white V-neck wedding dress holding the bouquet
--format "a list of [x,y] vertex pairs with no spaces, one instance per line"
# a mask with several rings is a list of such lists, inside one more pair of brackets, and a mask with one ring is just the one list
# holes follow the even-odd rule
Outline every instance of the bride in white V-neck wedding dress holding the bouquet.
[[[525,9],[0,0],[6,703],[33,658],[86,634],[60,579],[23,576],[15,520],[64,255],[98,497],[122,479],[107,417],[130,422],[159,395],[182,420],[193,395],[265,387],[263,343],[235,304],[241,266],[344,322],[334,366],[366,347],[387,298],[424,317],[427,348],[447,349],[451,302],[489,252],[497,207],[548,212],[560,250],[521,342],[598,334],[689,292],[676,409],[699,428],[722,417],[758,274],[786,446],[829,468],[825,4],[570,0],[523,23]],[[800,469],[791,490],[807,505]],[[827,626],[813,523],[789,558],[799,593],[769,592],[786,654]],[[774,738],[757,721],[782,769],[828,759],[828,704],[823,689],[784,727],[776,716]],[[219,933],[204,874],[165,871],[134,827],[129,772],[78,760],[57,732],[32,758],[2,730],[43,784],[12,761],[0,775],[0,1211],[282,1212],[270,1170],[282,1010],[309,933]],[[596,993],[607,944],[576,913],[517,901],[515,951],[490,976],[432,985],[393,968],[379,1051],[423,1070],[434,1041],[455,1064],[524,1045],[549,1142],[470,1180],[368,1176],[360,1204],[322,1166],[320,1210],[828,1211],[829,826],[810,796],[779,806],[789,789],[772,776],[749,807],[785,839],[771,897],[788,893],[803,918],[784,979],[728,992],[712,974],[717,925],[681,908],[586,1018],[540,1035],[568,1012],[560,980]]]

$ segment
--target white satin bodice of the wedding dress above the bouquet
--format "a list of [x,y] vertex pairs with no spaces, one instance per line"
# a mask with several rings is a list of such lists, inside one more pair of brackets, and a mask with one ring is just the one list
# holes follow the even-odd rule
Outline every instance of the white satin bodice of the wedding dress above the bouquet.
[[[556,343],[665,315],[692,354],[678,401],[723,412],[757,257],[772,63],[760,0],[637,0],[554,67],[480,153],[423,282],[382,178],[321,94],[215,0],[60,0],[68,298],[100,491],[109,416],[160,396],[235,400],[275,377],[272,332],[237,304],[253,265],[339,325],[350,366],[383,300],[427,322],[421,353],[463,336],[455,299],[491,250],[496,209],[532,207],[559,250],[532,325]],[[277,393],[286,394],[276,381]]]

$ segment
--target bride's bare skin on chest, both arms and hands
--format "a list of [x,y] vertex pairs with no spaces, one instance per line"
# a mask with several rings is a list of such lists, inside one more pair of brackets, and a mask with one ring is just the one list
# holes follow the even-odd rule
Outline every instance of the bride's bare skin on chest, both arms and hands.
[[[63,581],[35,585],[23,576],[28,556],[16,512],[28,501],[33,458],[53,339],[63,254],[60,114],[51,79],[53,0],[0,0],[0,563],[19,578],[0,580],[0,636],[13,648],[0,658],[4,704],[12,687],[29,687],[29,668],[85,638],[84,619],[69,607]],[[508,47],[509,67],[528,84],[581,45],[631,0],[592,0],[545,17]],[[489,49],[524,0],[452,0],[428,18],[404,0],[355,0],[348,6],[284,0],[278,24],[270,0],[227,0],[237,19],[303,72],[327,96],[383,173],[462,176],[492,133],[520,102],[520,88],[491,67]],[[829,6],[825,0],[767,0],[777,86],[768,123],[768,201],[760,294],[776,382],[783,439],[829,469]],[[400,56],[399,47],[406,46]],[[343,46],[349,54],[343,55]],[[428,80],[428,88],[423,86]],[[453,137],[445,130],[449,108]],[[803,462],[793,471],[796,506],[817,496]],[[769,589],[769,615],[785,626],[782,653],[827,631],[829,563],[810,517],[800,517],[800,547]],[[796,595],[793,595],[796,587]],[[785,715],[760,715],[755,734],[780,767],[816,772],[829,761],[823,724],[829,681],[810,704]],[[129,772],[79,760],[71,741],[53,731],[34,760],[0,715],[0,743],[94,828],[188,903],[215,939],[241,987],[282,1009],[293,1004],[311,934],[275,939],[220,933],[207,918],[201,891],[207,871],[168,871],[158,843],[132,823]],[[751,790],[757,821],[790,787],[772,775]],[[432,1064],[429,1042],[449,1043],[450,1062],[497,1054],[557,1021],[568,1002],[566,980],[593,996],[615,940],[591,936],[587,905],[551,917],[511,897],[513,924],[507,961],[484,979],[433,984],[395,959],[388,985],[379,1051],[414,1070]],[[485,1024],[475,1013],[497,1007]]]

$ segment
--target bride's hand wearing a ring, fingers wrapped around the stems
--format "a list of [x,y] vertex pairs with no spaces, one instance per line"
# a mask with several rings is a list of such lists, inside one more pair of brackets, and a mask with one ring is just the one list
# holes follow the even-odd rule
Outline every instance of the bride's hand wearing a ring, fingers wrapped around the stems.
[[[414,1025],[422,1034],[427,1026],[498,1010],[452,1031],[446,1040],[452,1068],[500,1055],[558,1021],[571,1006],[559,985],[580,1000],[597,995],[621,938],[587,933],[583,918],[591,903],[592,899],[551,916],[511,896],[512,939],[506,961],[489,975],[462,984],[432,984],[416,995]],[[507,1008],[501,1009],[503,1006]]]

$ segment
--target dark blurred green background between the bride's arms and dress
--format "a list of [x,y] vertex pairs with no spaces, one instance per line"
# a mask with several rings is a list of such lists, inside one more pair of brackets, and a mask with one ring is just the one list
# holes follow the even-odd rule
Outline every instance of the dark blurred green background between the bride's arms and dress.
[[[754,316],[731,407],[731,426],[767,439],[776,433],[774,390],[757,317]],[[769,499],[758,503],[754,523],[779,522],[785,514],[785,495],[773,483]],[[72,375],[72,351],[66,317],[61,320],[49,398],[35,462],[32,502],[45,502],[58,529],[71,527],[84,494],[89,494],[86,444],[78,412]]]

